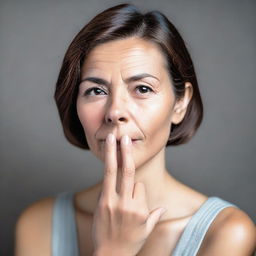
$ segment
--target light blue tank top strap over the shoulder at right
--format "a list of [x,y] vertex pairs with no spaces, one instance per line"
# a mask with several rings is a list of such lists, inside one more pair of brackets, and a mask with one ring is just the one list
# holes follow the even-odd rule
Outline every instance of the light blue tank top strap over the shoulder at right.
[[210,224],[220,211],[230,206],[238,208],[219,197],[209,197],[188,222],[172,256],[195,256]]

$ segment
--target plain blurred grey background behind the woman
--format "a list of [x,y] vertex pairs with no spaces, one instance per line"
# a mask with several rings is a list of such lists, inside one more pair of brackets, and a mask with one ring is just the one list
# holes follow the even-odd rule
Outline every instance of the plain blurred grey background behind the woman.
[[[32,202],[96,183],[102,163],[64,138],[53,99],[63,55],[97,13],[123,1],[1,1],[1,255]],[[205,116],[167,166],[187,185],[237,204],[256,221],[255,1],[130,1],[162,11],[194,60]]]

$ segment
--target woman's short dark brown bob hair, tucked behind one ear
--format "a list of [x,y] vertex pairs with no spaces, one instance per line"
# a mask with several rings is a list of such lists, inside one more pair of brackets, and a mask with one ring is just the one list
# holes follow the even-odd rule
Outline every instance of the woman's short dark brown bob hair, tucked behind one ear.
[[167,60],[176,99],[184,96],[185,82],[191,82],[193,96],[179,124],[172,124],[166,146],[189,141],[201,124],[203,104],[190,54],[174,25],[159,11],[141,13],[132,4],[119,4],[96,15],[75,36],[64,56],[54,98],[64,134],[75,146],[89,149],[76,110],[81,68],[90,50],[105,42],[139,37],[160,46]]

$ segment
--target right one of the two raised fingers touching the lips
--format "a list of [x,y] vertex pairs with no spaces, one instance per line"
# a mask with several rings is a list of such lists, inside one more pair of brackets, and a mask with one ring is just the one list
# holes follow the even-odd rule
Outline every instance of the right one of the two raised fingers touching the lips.
[[128,135],[121,139],[122,153],[122,180],[121,180],[121,197],[132,198],[134,188],[135,166],[132,157],[132,142]]

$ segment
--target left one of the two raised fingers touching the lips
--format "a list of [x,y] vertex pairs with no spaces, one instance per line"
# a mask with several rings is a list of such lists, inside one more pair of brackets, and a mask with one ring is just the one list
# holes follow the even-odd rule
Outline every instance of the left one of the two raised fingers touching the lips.
[[116,138],[108,134],[105,141],[105,167],[102,193],[111,195],[116,193],[117,159],[116,159]]

